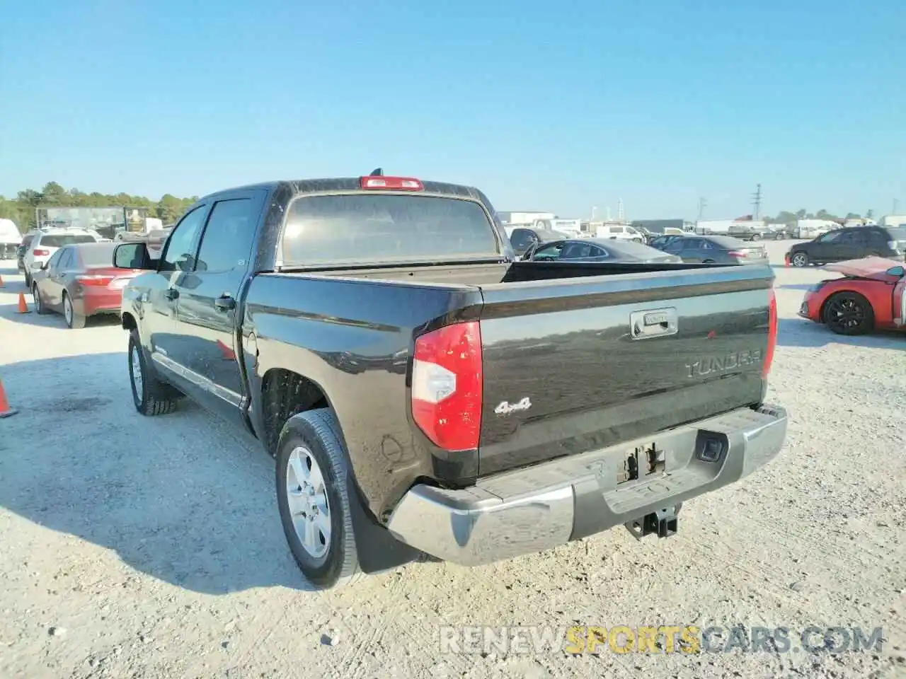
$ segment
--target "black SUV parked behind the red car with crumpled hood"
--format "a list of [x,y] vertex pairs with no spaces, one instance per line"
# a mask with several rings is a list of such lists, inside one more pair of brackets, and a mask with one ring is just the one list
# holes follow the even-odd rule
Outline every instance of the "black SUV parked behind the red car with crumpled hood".
[[852,226],[834,229],[807,243],[797,243],[786,253],[786,263],[796,267],[845,262],[862,257],[903,260],[906,226]]

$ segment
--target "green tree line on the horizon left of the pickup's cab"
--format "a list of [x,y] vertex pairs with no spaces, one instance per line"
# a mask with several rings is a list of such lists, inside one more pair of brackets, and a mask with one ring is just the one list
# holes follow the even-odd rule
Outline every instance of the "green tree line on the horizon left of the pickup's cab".
[[12,219],[19,231],[25,233],[35,225],[36,207],[144,207],[149,217],[158,217],[164,225],[169,225],[197,200],[198,196],[178,198],[170,194],[154,201],[145,196],[124,193],[85,193],[77,188],[66,189],[56,182],[48,182],[40,191],[26,188],[14,198],[0,196],[0,218]]

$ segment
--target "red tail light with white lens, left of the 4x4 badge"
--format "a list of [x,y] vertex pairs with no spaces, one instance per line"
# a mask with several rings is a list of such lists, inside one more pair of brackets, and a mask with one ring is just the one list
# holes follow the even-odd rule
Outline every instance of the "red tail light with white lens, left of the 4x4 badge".
[[478,447],[482,386],[477,320],[448,325],[415,340],[412,417],[435,445],[448,451]]

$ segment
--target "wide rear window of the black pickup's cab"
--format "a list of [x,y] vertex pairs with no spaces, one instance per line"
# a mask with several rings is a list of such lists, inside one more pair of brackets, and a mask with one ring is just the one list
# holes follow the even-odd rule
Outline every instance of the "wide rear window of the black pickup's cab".
[[297,196],[287,210],[282,264],[499,257],[484,207],[443,196]]

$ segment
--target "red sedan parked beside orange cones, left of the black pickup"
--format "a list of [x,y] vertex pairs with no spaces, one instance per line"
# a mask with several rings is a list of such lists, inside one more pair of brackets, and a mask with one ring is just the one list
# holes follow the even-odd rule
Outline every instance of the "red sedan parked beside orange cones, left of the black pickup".
[[113,266],[117,245],[66,245],[53,253],[40,270],[32,272],[35,310],[62,311],[70,328],[83,328],[89,316],[120,313],[122,289],[141,271]]

